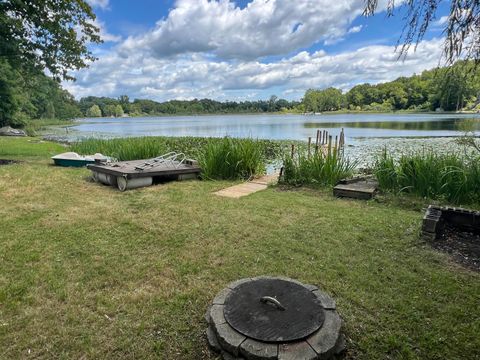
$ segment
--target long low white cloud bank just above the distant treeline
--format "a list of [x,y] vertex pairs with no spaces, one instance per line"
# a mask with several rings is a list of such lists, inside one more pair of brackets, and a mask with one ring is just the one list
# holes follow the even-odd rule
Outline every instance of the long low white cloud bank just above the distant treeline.
[[[423,41],[416,52],[399,61],[393,46],[367,46],[329,55],[300,52],[277,62],[212,61],[206,55],[183,55],[171,61],[139,52],[122,57],[116,52],[76,74],[65,87],[77,98],[88,95],[151,98],[158,101],[209,97],[242,99],[272,88],[288,89],[299,98],[308,88],[335,86],[344,90],[363,82],[384,82],[438,65],[443,40]],[[279,94],[280,95],[280,94]],[[266,96],[264,96],[266,97]]]

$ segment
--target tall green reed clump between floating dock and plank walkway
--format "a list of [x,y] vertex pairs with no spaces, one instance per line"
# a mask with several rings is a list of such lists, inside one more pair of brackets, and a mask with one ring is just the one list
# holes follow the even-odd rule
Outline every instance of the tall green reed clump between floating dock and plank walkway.
[[210,142],[198,160],[204,179],[248,179],[265,173],[262,144],[253,139],[225,137]]

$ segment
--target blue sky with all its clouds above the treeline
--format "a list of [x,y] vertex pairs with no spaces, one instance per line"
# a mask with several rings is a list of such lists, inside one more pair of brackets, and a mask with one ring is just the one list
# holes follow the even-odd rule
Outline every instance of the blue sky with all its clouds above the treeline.
[[89,0],[105,42],[64,86],[77,98],[300,99],[308,88],[389,81],[439,64],[445,1],[415,53],[398,61],[402,11],[363,0]]

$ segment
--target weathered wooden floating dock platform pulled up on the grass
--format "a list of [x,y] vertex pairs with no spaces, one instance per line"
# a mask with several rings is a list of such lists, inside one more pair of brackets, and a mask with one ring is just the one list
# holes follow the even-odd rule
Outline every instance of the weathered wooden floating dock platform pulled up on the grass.
[[195,160],[159,157],[150,160],[92,164],[88,168],[95,182],[118,187],[120,191],[150,186],[169,180],[196,179],[200,167]]

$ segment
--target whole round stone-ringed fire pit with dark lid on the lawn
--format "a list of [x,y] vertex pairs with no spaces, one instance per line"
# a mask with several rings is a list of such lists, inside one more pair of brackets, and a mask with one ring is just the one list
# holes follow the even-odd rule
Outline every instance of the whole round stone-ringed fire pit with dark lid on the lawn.
[[235,281],[206,319],[208,342],[224,359],[328,359],[345,348],[335,301],[292,279]]

